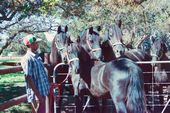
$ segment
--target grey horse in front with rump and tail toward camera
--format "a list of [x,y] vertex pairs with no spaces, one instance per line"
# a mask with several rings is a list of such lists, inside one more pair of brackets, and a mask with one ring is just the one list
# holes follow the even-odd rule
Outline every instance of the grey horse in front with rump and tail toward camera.
[[100,27],[86,29],[78,38],[80,77],[96,97],[110,94],[117,113],[144,113],[145,92],[143,72],[130,59],[102,62]]

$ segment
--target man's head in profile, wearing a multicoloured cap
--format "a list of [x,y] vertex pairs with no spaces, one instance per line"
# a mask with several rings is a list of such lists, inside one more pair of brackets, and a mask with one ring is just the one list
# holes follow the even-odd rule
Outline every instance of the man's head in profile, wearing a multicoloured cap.
[[23,39],[24,45],[30,48],[33,52],[38,49],[39,45],[37,42],[39,41],[41,41],[41,39],[35,35],[27,35]]

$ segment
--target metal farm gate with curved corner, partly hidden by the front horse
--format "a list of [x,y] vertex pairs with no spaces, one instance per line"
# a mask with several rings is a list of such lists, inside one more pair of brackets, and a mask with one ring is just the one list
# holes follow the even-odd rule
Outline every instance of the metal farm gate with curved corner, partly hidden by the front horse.
[[[137,62],[138,64],[151,64],[151,61]],[[170,61],[156,61],[154,63],[170,63]],[[53,83],[61,83],[59,87],[54,89],[54,95],[56,99],[60,98],[59,101],[52,102],[52,112],[54,113],[76,113],[75,112],[75,99],[74,91],[71,83],[70,77],[67,76],[68,65],[65,63],[60,63],[55,66],[53,72]],[[170,67],[169,67],[170,68]],[[152,72],[143,72],[145,77],[150,77],[151,81],[144,81],[144,87],[148,87],[149,90],[146,92],[147,108],[150,113],[170,113],[170,82],[159,83],[159,86],[154,81],[154,72],[152,67]],[[170,76],[170,72],[167,72]],[[68,78],[68,79],[67,79]],[[167,88],[169,85],[169,88]],[[160,87],[162,86],[162,87]],[[163,92],[159,92],[159,88],[163,88]],[[60,94],[58,94],[60,93]],[[83,103],[86,103],[87,95],[83,98]],[[163,100],[162,100],[163,99]],[[103,99],[98,99],[100,108],[95,110],[93,104],[88,104],[83,113],[115,113],[115,108],[111,99],[105,99],[103,104]],[[84,105],[83,104],[83,105]]]

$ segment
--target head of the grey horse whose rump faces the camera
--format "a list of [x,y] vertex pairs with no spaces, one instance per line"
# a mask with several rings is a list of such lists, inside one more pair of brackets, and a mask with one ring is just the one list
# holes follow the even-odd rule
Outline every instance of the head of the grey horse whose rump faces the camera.
[[100,48],[100,26],[97,28],[90,27],[82,32],[82,35],[78,37],[79,47],[84,49],[84,51],[90,56],[90,59],[101,60],[102,52]]

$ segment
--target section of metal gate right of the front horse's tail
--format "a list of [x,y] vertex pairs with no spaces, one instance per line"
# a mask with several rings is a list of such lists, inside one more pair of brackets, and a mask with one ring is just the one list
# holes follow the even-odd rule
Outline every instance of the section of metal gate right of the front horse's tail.
[[[170,61],[141,61],[137,62],[137,64],[159,64],[159,63],[170,63]],[[170,68],[170,67],[169,67]],[[154,80],[154,67],[152,66],[151,72],[144,72],[144,76],[151,76],[151,81],[149,83],[144,83],[144,86],[150,87],[148,93],[146,93],[147,99],[147,109],[151,113],[170,113],[170,82],[164,83],[156,83]],[[168,76],[170,76],[170,72],[167,72]],[[168,87],[169,88],[168,88]],[[163,88],[163,92],[160,93],[159,89]],[[145,91],[146,92],[146,91]],[[161,100],[163,98],[163,100]]]

